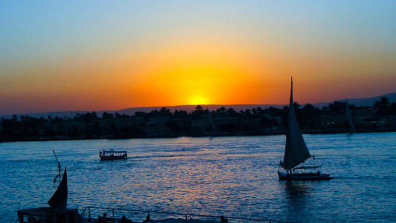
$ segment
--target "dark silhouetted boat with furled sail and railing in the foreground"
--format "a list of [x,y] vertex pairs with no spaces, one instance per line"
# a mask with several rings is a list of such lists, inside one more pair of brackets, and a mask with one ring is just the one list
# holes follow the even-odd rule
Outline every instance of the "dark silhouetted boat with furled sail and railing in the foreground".
[[[53,151],[54,155],[55,152]],[[55,155],[56,158],[56,155]],[[269,222],[269,223],[293,223],[288,221],[277,221],[270,219],[250,219],[224,216],[183,214],[164,211],[130,210],[119,208],[86,207],[81,214],[77,209],[67,208],[68,186],[66,167],[61,174],[61,166],[58,163],[59,174],[53,182],[59,182],[55,193],[49,199],[50,207],[39,207],[18,210],[18,219],[15,223],[85,223],[85,222],[107,222],[107,223],[218,223],[228,222]],[[117,206],[116,204],[114,204]],[[107,215],[109,213],[109,215]],[[150,218],[153,214],[153,219]],[[168,218],[164,217],[168,216]],[[170,218],[169,218],[170,217]],[[129,219],[131,218],[131,219]]]

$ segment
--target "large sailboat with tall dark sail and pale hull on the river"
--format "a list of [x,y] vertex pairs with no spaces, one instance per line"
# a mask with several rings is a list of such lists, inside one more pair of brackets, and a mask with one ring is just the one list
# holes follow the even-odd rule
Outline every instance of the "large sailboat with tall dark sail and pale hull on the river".
[[[311,158],[308,148],[302,138],[300,129],[298,127],[296,113],[293,105],[293,78],[290,92],[290,105],[288,117],[288,129],[286,133],[286,146],[283,162],[280,162],[282,168],[286,172],[278,171],[280,180],[317,180],[317,179],[332,179],[329,174],[323,174],[319,170],[316,172],[305,172],[307,169],[317,169],[320,166],[300,166],[307,159]],[[312,157],[313,158],[313,157]],[[314,158],[313,158],[314,159]],[[302,171],[302,172],[300,172]]]

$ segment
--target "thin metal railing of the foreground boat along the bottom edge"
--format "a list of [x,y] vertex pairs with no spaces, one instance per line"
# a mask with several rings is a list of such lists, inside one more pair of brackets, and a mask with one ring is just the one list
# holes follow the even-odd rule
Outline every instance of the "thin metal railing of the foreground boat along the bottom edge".
[[[102,208],[102,207],[86,207],[83,208],[83,212],[81,215],[84,217],[86,222],[97,222],[98,219],[94,217],[99,216],[101,213],[99,213],[100,210],[108,211],[111,212],[111,216],[107,216],[107,222],[117,222],[119,220],[119,217],[116,218],[114,215],[114,212],[133,212],[132,214],[143,214],[143,213],[154,213],[158,215],[168,215],[171,217],[183,217],[184,219],[192,219],[191,217],[201,217],[205,219],[212,219],[214,220],[213,222],[220,222],[220,217],[221,216],[212,216],[212,215],[198,215],[198,214],[183,214],[183,213],[175,213],[175,212],[163,212],[163,211],[148,211],[148,210],[130,210],[130,209],[119,209],[119,208]],[[139,218],[134,219],[135,222],[142,222],[143,221],[143,216],[139,216]],[[227,216],[224,216],[227,217]],[[247,223],[247,222],[268,222],[268,223],[297,223],[297,222],[289,222],[289,221],[277,221],[277,220],[270,220],[270,219],[252,219],[252,218],[237,218],[237,217],[227,217],[226,219],[232,219],[236,220],[235,222],[241,222],[241,223]],[[132,221],[134,221],[132,220]]]

